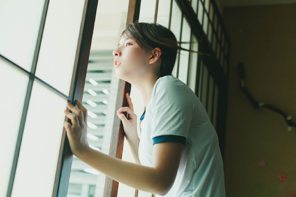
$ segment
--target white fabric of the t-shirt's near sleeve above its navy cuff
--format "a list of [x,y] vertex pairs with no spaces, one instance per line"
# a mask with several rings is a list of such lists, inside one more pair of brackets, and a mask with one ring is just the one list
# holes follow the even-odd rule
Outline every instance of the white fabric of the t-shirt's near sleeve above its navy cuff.
[[173,76],[163,77],[152,93],[151,139],[162,135],[187,138],[193,116],[194,102],[186,84]]

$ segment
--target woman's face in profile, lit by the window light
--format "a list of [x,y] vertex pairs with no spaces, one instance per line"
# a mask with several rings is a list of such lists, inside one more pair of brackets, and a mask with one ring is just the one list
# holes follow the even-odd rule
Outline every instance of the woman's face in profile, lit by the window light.
[[141,48],[135,40],[125,34],[121,36],[118,48],[113,51],[116,76],[127,82],[141,79],[147,74],[151,53]]

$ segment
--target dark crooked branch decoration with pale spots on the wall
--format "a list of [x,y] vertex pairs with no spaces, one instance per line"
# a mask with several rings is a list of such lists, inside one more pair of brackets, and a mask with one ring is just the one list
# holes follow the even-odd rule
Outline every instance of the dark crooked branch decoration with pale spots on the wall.
[[282,110],[274,107],[273,105],[269,105],[266,102],[258,102],[252,97],[252,95],[247,91],[245,88],[245,82],[244,82],[244,64],[240,63],[238,65],[239,68],[239,88],[244,92],[244,94],[247,96],[247,98],[250,100],[254,108],[268,108],[276,113],[281,114],[285,121],[288,124],[288,131],[292,130],[292,127],[296,127],[296,124],[292,121],[292,116],[287,115]]

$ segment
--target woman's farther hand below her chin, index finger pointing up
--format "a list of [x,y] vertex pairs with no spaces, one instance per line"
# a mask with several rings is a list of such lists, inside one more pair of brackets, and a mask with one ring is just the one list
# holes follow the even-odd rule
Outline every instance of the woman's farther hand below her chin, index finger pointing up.
[[[133,113],[133,103],[131,102],[128,93],[126,93],[126,101],[128,107],[123,107],[117,110],[117,115],[122,121],[123,129],[126,133],[126,139],[132,141],[133,139],[139,138],[137,133],[137,116]],[[128,118],[126,118],[122,112],[128,113]]]

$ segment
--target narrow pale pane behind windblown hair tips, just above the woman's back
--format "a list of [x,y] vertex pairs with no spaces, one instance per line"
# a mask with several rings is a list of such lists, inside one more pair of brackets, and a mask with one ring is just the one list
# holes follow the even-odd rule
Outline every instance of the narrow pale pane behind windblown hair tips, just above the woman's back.
[[[191,50],[198,51],[198,43],[195,36],[192,34],[192,43],[191,43]],[[189,80],[188,86],[195,92],[196,86],[196,75],[197,75],[197,53],[190,53],[190,64],[189,64]]]

